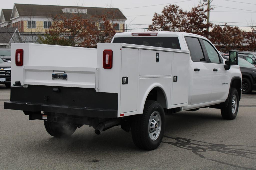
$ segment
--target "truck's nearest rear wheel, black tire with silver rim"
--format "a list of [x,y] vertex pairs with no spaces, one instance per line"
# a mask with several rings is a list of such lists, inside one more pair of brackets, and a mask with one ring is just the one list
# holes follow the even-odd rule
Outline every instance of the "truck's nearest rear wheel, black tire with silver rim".
[[164,109],[157,101],[145,102],[143,114],[133,116],[132,139],[141,149],[156,149],[163,138],[165,128]]

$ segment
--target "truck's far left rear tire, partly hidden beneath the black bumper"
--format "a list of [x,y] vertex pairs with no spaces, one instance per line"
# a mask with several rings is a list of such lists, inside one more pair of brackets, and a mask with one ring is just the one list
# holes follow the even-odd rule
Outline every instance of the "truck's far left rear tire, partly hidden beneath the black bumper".
[[57,123],[44,121],[44,124],[48,134],[57,138],[69,137],[77,129],[77,127],[72,123]]

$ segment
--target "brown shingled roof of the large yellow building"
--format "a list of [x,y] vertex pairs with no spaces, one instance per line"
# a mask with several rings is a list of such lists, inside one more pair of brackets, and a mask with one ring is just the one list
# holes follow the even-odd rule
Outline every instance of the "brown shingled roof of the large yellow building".
[[[118,8],[98,8],[98,7],[78,7],[78,6],[57,6],[57,5],[33,5],[33,4],[14,4],[19,16],[38,16],[38,17],[55,17],[56,15],[65,14],[67,16],[71,13],[64,13],[64,8],[87,9],[87,14],[79,13],[84,18],[90,18],[95,15],[107,14],[113,11],[116,19],[127,20],[123,13]],[[15,8],[14,8],[15,9]]]

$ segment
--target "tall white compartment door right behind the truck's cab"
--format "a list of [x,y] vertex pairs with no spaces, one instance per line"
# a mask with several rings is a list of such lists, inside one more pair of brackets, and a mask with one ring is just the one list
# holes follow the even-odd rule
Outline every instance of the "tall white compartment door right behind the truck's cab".
[[189,54],[173,53],[172,105],[188,102]]

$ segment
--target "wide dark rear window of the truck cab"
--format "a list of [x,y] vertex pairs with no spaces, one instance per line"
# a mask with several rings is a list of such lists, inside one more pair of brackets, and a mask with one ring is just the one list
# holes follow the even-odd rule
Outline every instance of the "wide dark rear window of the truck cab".
[[178,37],[116,37],[113,43],[180,49]]

